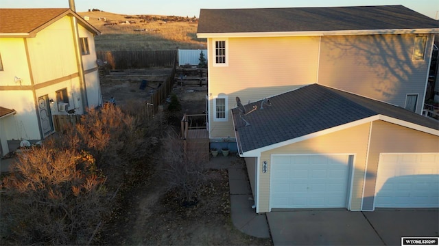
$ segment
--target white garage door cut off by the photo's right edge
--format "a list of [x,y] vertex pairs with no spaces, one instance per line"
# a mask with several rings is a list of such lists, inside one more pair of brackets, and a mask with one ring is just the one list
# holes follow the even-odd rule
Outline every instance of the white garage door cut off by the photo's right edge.
[[375,207],[439,207],[439,154],[381,154]]

